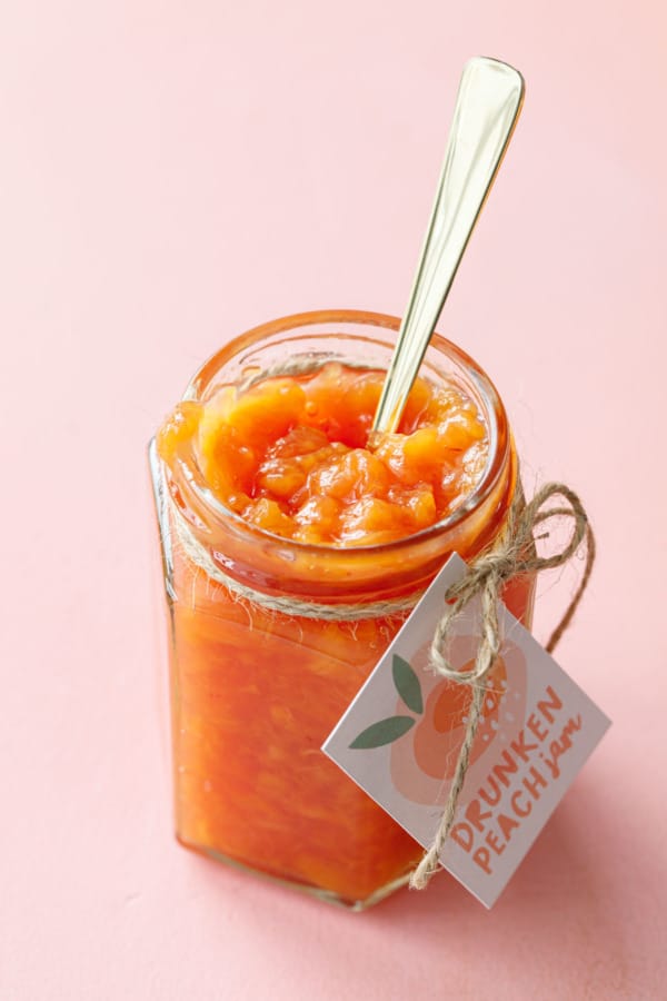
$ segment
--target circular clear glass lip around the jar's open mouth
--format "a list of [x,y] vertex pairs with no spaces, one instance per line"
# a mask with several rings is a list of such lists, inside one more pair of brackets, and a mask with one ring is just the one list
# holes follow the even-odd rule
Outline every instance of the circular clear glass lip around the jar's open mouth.
[[[391,340],[378,340],[377,334],[378,330],[396,333],[400,327],[400,319],[395,316],[358,309],[327,309],[280,317],[279,319],[262,324],[248,333],[236,337],[231,341],[228,341],[220,350],[216,351],[216,354],[205,361],[193,375],[186,388],[182,399],[197,402],[205,399],[216,387],[216,379],[220,376],[222,369],[232,360],[235,368],[238,370],[237,375],[239,377],[246,376],[248,369],[252,368],[251,359],[253,349],[259,348],[262,343],[266,343],[267,338],[277,338],[276,344],[279,345],[281,334],[293,334],[293,331],[297,331],[295,336],[289,338],[291,345],[295,343],[298,344],[299,340],[311,344],[318,338],[320,338],[322,345],[325,345],[327,339],[332,339],[336,334],[340,336],[341,333],[345,333],[346,343],[355,343],[360,346],[369,344],[376,348],[382,347],[387,349],[388,356],[390,356],[394,348]],[[341,326],[345,326],[348,329],[341,331]],[[360,333],[357,335],[350,331],[350,326],[352,326],[352,328],[358,328]],[[309,328],[308,334],[298,333],[305,328]],[[375,336],[368,336],[369,333],[375,333]],[[323,364],[323,360],[327,360],[327,358],[336,359],[344,364],[349,361],[345,355],[332,350],[327,351],[326,348],[321,353],[310,351],[309,356],[313,359],[313,367],[317,367],[317,364]],[[426,375],[427,378],[429,377],[429,369],[431,370],[431,374],[437,375],[438,367],[435,364],[435,360],[438,358],[447,358],[449,363],[454,364],[457,370],[465,373],[466,380],[464,381],[461,379],[459,381],[466,392],[472,395],[476,405],[481,410],[482,420],[489,436],[489,450],[486,466],[475,489],[458,507],[450,512],[450,514],[436,522],[434,525],[430,525],[428,528],[424,528],[390,542],[355,545],[352,547],[306,543],[298,539],[285,538],[283,536],[266,532],[262,528],[249,524],[239,514],[222,504],[222,502],[220,502],[208,488],[193,452],[188,456],[187,463],[183,460],[180,463],[188,483],[188,493],[196,503],[198,502],[198,507],[201,505],[201,507],[206,508],[209,517],[211,515],[213,515],[213,517],[218,516],[227,524],[233,524],[236,529],[247,538],[255,538],[258,542],[263,539],[272,546],[279,545],[283,549],[285,547],[288,547],[289,549],[293,549],[295,553],[302,555],[311,553],[319,558],[326,553],[334,554],[340,553],[341,551],[358,553],[360,557],[364,554],[370,556],[374,553],[379,552],[387,555],[391,552],[398,553],[406,547],[411,547],[420,543],[427,543],[432,538],[441,537],[444,534],[456,533],[456,529],[466,523],[470,514],[477,511],[480,505],[484,505],[485,502],[491,497],[494,490],[497,489],[499,479],[507,469],[507,462],[510,453],[510,438],[507,416],[500,397],[496,387],[480,366],[466,351],[457,347],[450,340],[439,334],[434,334],[420,373]],[[372,364],[376,368],[381,367],[378,365],[377,359],[368,359],[367,364]],[[226,375],[223,381],[232,383],[236,381],[236,379]]]

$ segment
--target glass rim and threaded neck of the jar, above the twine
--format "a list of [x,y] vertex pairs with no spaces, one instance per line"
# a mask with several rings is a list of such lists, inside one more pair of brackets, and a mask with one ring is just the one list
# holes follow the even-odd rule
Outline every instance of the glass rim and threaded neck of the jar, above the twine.
[[[275,361],[303,357],[341,364],[389,361],[398,317],[358,309],[327,309],[281,317],[233,338],[190,380],[183,400],[200,402],[227,384],[243,385]],[[392,336],[382,336],[386,329]],[[334,338],[338,337],[335,343]],[[341,353],[341,345],[344,350]],[[297,346],[297,347],[296,347]],[[347,348],[347,351],[345,350]],[[334,350],[332,350],[334,349]],[[489,430],[489,457],[477,487],[446,518],[420,532],[370,545],[322,545],[273,535],[227,508],[207,486],[193,443],[160,463],[165,497],[193,539],[227,577],[269,595],[325,604],[362,604],[417,594],[454,552],[474,558],[505,524],[518,480],[518,463],[505,408],[480,366],[451,341],[434,335],[422,361],[436,383],[452,380],[471,396]],[[161,488],[162,489],[162,488]],[[168,537],[169,533],[167,533]]]

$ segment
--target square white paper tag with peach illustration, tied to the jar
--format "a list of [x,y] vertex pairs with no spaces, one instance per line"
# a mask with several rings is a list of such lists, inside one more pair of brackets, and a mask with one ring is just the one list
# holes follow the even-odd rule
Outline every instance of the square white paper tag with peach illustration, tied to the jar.
[[[471,690],[429,667],[444,594],[466,571],[451,556],[322,746],[424,848],[438,827]],[[456,620],[447,656],[470,666],[479,603]],[[440,862],[487,908],[498,899],[610,721],[530,633],[498,607],[489,676],[456,821]]]

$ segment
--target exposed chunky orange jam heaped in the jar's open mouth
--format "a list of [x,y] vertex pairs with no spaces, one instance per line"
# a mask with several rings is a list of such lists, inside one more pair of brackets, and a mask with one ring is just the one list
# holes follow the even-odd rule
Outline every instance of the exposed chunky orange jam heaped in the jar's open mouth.
[[475,489],[488,438],[455,386],[412,387],[397,434],[370,435],[385,373],[329,363],[315,374],[226,386],[181,404],[160,434],[169,458],[192,437],[227,507],[301,543],[359,546],[435,525]]

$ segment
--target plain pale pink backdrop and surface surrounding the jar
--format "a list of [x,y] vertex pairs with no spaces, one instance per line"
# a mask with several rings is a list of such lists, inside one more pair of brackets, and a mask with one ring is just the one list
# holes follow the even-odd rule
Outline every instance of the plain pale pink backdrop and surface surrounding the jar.
[[[4,6],[3,1001],[664,997],[666,37],[658,0]],[[559,660],[615,726],[494,911],[350,915],[171,838],[145,448],[231,335],[401,311],[476,52],[527,100],[441,329],[589,508]]]

